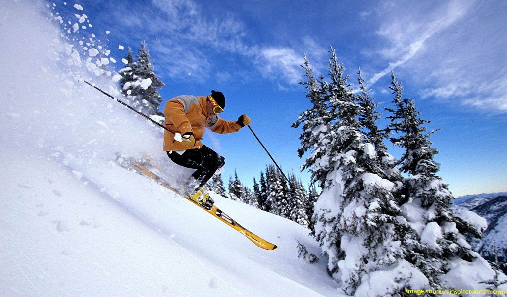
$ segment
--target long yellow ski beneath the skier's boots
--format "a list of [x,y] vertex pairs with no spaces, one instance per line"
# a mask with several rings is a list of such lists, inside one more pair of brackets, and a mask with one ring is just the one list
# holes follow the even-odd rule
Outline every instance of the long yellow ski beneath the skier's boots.
[[138,162],[134,161],[134,162],[132,162],[130,164],[130,168],[136,170],[137,172],[139,172],[139,173],[141,173],[143,175],[146,175],[146,176],[152,178],[153,180],[155,180],[159,184],[163,185],[163,187],[166,187],[167,189],[169,189],[169,190],[173,191],[174,193],[178,194],[179,196],[182,196],[182,197],[186,198],[187,200],[189,200],[190,202],[194,203],[195,205],[199,206],[201,209],[209,212],[211,215],[213,215],[214,217],[216,217],[216,218],[220,219],[221,221],[225,222],[225,224],[229,225],[234,230],[236,230],[239,233],[241,233],[244,236],[246,236],[246,238],[248,238],[251,242],[255,243],[260,248],[266,249],[266,250],[275,250],[275,249],[278,248],[278,246],[276,246],[276,244],[273,244],[273,243],[271,243],[271,242],[269,242],[269,241],[261,238],[260,236],[258,236],[256,234],[253,234],[252,232],[248,231],[247,229],[245,229],[244,227],[242,227],[241,225],[239,225],[237,221],[235,221],[234,219],[232,219],[230,216],[228,216],[226,213],[224,213],[222,210],[220,210],[214,204],[211,207],[211,209],[207,209],[207,208],[201,206],[196,201],[194,201],[192,198],[187,197],[186,195],[183,195],[177,189],[173,188],[162,177],[160,177],[157,174],[153,173],[152,171],[150,171],[148,168],[146,168],[146,166],[142,165],[141,163],[138,163]]

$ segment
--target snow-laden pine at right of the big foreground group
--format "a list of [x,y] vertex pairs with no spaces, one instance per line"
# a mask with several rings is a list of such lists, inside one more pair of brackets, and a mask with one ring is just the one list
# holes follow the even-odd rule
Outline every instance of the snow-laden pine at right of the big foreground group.
[[[402,214],[416,234],[407,242],[407,259],[422,271],[433,289],[461,287],[485,289],[486,282],[495,277],[490,265],[470,246],[468,235],[479,237],[486,228],[484,218],[471,211],[460,217],[449,209],[454,199],[448,185],[437,175],[440,164],[434,161],[438,151],[431,145],[424,125],[429,121],[420,118],[415,101],[403,98],[403,87],[391,73],[393,104],[389,128],[396,132],[391,137],[395,145],[404,149],[400,160],[401,170],[408,175],[403,180],[405,202]],[[463,275],[466,271],[472,274]],[[457,282],[456,279],[462,281]],[[503,276],[505,279],[505,276]]]

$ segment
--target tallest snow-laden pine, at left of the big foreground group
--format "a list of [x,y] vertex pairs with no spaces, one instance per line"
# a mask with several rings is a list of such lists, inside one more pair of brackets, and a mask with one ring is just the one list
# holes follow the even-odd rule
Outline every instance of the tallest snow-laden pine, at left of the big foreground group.
[[305,65],[307,96],[313,100],[318,94],[325,100],[319,104],[329,107],[322,113],[328,118],[319,122],[303,113],[298,120],[305,124],[300,152],[311,152],[305,166],[313,166],[312,178],[323,188],[315,204],[315,235],[328,256],[328,271],[348,294],[399,296],[405,288],[424,288],[427,279],[404,260],[402,238],[410,228],[398,220],[394,184],[381,176],[375,147],[366,142],[357,120],[361,108],[345,67],[334,49],[330,53],[331,82],[321,81],[321,90],[315,89],[316,80]]

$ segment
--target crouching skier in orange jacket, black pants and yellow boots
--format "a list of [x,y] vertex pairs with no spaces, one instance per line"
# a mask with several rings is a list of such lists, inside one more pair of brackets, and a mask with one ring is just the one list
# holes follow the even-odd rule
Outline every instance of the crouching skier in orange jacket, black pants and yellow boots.
[[174,132],[164,132],[164,151],[177,165],[196,169],[185,182],[184,191],[207,207],[213,204],[213,200],[209,198],[205,184],[225,165],[225,158],[201,143],[204,128],[224,134],[237,132],[251,122],[246,115],[241,115],[237,121],[223,120],[218,115],[224,108],[224,94],[214,90],[207,97],[176,96],[164,107],[165,126]]

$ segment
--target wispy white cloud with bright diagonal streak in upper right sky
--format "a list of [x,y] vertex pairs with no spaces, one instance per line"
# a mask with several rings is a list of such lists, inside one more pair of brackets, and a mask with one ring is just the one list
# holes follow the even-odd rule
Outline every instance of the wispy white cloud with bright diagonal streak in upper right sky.
[[[377,50],[387,65],[374,72],[369,85],[397,69],[423,99],[507,112],[507,43],[505,31],[498,30],[505,18],[502,23],[492,17],[493,7],[475,1],[432,2],[419,10],[389,6],[377,30],[387,41]],[[501,15],[505,5],[497,9]]]

